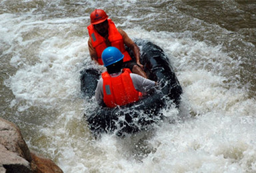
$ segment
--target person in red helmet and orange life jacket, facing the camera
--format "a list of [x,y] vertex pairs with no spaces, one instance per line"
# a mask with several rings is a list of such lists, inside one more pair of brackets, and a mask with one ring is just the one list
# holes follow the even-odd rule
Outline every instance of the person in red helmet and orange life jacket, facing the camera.
[[[89,32],[88,47],[91,59],[103,65],[101,53],[107,47],[117,47],[123,53],[123,67],[130,69],[133,73],[147,78],[143,71],[143,65],[139,60],[139,47],[128,37],[122,29],[115,27],[115,23],[109,19],[107,13],[102,9],[95,9],[91,15],[91,24],[87,27]],[[133,51],[135,61],[131,59],[125,50],[125,45]]]

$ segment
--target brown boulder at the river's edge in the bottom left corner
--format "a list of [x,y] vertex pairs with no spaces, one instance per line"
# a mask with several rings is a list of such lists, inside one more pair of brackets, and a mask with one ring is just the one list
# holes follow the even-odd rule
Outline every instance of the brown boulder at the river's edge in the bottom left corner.
[[30,152],[21,130],[0,118],[0,173],[63,173],[52,160]]

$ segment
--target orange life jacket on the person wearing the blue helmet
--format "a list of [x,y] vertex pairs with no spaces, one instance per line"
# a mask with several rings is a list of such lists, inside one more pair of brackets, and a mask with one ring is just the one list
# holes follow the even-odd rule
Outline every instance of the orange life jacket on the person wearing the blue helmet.
[[118,77],[111,77],[107,72],[102,73],[103,101],[108,107],[123,106],[139,100],[142,93],[133,86],[130,73],[130,69],[123,69]]

